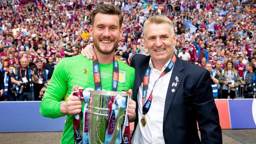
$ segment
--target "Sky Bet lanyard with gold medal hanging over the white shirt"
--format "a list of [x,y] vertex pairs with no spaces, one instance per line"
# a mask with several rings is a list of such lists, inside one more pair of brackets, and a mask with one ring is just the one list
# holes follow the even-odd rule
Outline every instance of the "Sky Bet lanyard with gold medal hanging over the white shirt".
[[[165,74],[167,74],[168,72],[170,72],[174,66],[176,62],[176,56],[175,54],[173,54],[172,56],[172,59],[170,61],[170,63],[168,64],[168,66],[165,68],[165,70],[162,72],[162,74],[159,76],[158,79],[160,79],[162,76],[164,76]],[[143,78],[143,87],[142,87],[142,114],[143,114],[143,117],[141,118],[140,122],[142,124],[142,126],[144,127],[147,123],[146,121],[146,117],[145,115],[148,113],[149,109],[150,109],[150,106],[151,106],[151,103],[152,103],[152,92],[153,92],[153,89],[155,87],[155,84],[157,82],[157,80],[155,81],[154,85],[153,85],[153,88],[152,88],[152,91],[149,95],[149,98],[148,100],[146,101],[145,103],[145,100],[146,100],[146,96],[147,96],[147,91],[148,91],[148,83],[149,83],[149,74],[150,74],[150,66],[148,66],[146,72],[145,72],[145,75],[144,75],[144,78]]]

